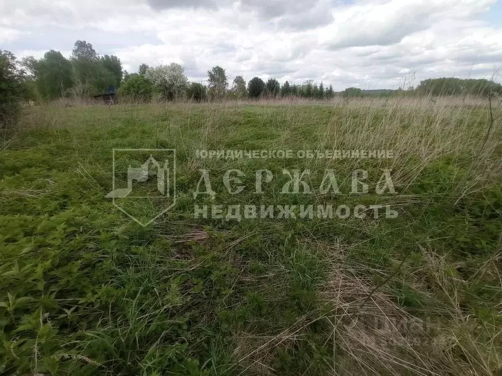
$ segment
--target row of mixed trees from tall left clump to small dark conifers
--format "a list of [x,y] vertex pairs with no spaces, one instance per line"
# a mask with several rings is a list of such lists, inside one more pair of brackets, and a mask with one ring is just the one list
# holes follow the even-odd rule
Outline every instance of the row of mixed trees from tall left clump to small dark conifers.
[[[7,53],[7,52],[6,52]],[[15,59],[14,59],[15,61]],[[259,77],[247,85],[242,76],[234,78],[229,86],[226,71],[215,66],[207,72],[207,85],[189,82],[183,66],[176,63],[149,67],[141,64],[138,73],[122,69],[120,59],[114,55],[100,56],[86,41],[76,41],[69,59],[61,52],[50,50],[41,59],[33,56],[16,62],[23,72],[25,95],[33,100],[49,101],[62,97],[91,97],[109,90],[141,100],[152,97],[162,99],[186,98],[196,101],[258,97],[299,96],[305,98],[332,98],[332,85],[324,87],[308,80],[301,85],[283,85],[274,78],[263,81]]]

